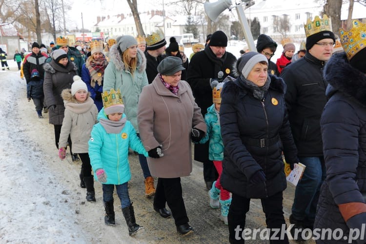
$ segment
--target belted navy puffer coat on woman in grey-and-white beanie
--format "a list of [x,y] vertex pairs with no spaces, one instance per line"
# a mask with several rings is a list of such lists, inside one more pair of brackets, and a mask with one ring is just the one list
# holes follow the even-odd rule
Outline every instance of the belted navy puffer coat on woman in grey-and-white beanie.
[[[266,198],[286,188],[282,151],[287,163],[298,163],[285,109],[285,83],[270,75],[264,100],[238,78],[225,83],[220,108],[221,134],[224,142],[221,184],[245,198]],[[271,139],[261,147],[260,139]],[[263,169],[264,184],[249,183]]]

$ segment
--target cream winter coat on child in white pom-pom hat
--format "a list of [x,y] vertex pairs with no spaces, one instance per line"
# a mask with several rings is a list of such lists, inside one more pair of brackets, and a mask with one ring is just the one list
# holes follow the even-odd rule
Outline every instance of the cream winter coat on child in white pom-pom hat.
[[71,89],[64,89],[61,93],[65,104],[59,148],[66,147],[67,138],[71,137],[73,153],[87,153],[91,130],[98,122],[98,108],[88,95],[83,103],[78,103],[71,95]]

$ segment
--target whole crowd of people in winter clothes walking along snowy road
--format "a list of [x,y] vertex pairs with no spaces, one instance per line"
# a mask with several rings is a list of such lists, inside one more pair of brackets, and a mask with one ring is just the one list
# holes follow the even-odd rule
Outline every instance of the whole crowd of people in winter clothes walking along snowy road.
[[[193,45],[190,59],[174,37],[166,47],[156,31],[110,38],[107,45],[92,41],[87,53],[64,37],[50,43],[49,55],[34,42],[30,54],[17,52],[14,60],[38,117],[48,112],[59,157],[65,159],[69,147],[72,161],[81,160],[88,202],[96,202],[94,181],[102,183],[105,224],[115,225],[116,188],[129,234],[143,229],[128,193],[128,181],[140,177],[131,175],[130,148],[151,207],[172,216],[178,234],[194,232],[181,184],[192,172],[194,143],[207,205],[220,208],[228,241],[244,243],[237,228],[248,227],[250,200],[261,199],[270,243],[288,243],[275,231],[286,225],[283,155],[291,170],[299,162],[306,166],[289,216],[295,240],[308,229],[340,228],[349,235],[366,224],[366,41],[357,34],[366,24],[352,24],[350,31],[341,29],[343,49],[333,55],[338,33],[327,16],[308,20],[306,42],[296,53],[284,39],[276,63],[278,44],[271,37],[261,34],[257,50],[244,47],[237,60],[220,30]],[[1,64],[8,67],[2,58]],[[365,239],[363,232],[354,243]]]

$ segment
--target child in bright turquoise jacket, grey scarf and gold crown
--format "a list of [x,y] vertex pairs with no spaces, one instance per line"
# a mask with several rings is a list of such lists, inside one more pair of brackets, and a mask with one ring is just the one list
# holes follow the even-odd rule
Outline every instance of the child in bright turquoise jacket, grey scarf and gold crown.
[[131,122],[127,121],[120,90],[111,89],[102,93],[103,108],[98,114],[99,123],[94,125],[89,140],[89,156],[94,177],[102,183],[105,208],[104,223],[115,225],[113,190],[121,200],[122,213],[130,235],[143,227],[136,224],[135,212],[128,195],[131,179],[128,163],[128,148],[148,156]]

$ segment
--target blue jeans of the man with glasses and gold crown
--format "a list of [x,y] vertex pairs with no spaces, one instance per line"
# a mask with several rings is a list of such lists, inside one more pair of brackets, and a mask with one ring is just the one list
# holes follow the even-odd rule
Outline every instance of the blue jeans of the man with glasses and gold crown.
[[306,168],[296,186],[292,217],[304,222],[305,227],[312,227],[320,186],[325,179],[324,157],[299,157],[299,160],[300,163],[305,164]]

